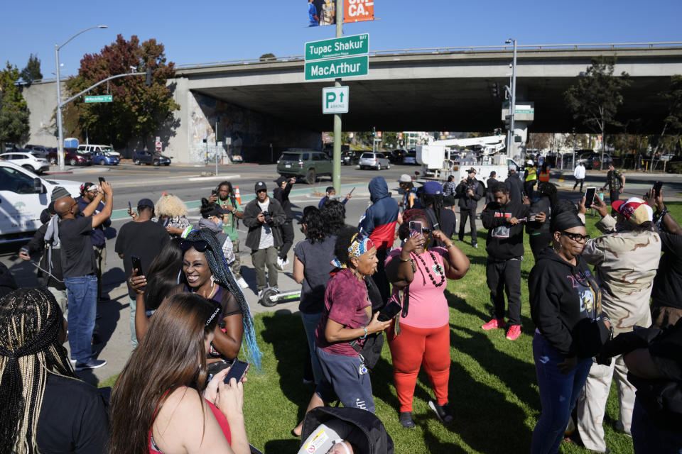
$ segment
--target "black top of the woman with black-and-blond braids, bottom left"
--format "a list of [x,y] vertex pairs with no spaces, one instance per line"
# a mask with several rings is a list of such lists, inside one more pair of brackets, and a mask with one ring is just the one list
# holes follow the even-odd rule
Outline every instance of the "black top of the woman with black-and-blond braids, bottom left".
[[41,453],[106,452],[109,416],[102,394],[80,380],[48,374],[36,441]]

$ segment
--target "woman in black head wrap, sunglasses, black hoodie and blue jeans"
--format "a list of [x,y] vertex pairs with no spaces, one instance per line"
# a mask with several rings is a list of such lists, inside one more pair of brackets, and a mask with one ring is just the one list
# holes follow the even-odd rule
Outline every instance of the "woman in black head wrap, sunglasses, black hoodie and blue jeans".
[[585,224],[570,201],[552,213],[553,245],[538,255],[528,280],[542,414],[536,423],[532,454],[556,453],[578,393],[587,380],[592,356],[610,336],[602,313],[602,294],[580,256]]

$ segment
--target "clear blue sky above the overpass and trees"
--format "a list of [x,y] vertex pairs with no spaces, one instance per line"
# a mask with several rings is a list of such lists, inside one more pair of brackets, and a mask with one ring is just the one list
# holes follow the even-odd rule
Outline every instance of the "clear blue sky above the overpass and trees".
[[[682,41],[682,1],[374,0],[380,21],[346,24],[369,33],[370,50],[521,44]],[[332,38],[333,26],[306,28],[306,0],[7,1],[0,60],[23,68],[38,54],[43,77],[55,71],[55,43],[89,26],[60,50],[63,74],[75,74],[85,53],[121,33],[156,38],[177,64],[302,55],[303,43]],[[511,8],[511,6],[514,6]],[[510,9],[509,13],[506,10]]]

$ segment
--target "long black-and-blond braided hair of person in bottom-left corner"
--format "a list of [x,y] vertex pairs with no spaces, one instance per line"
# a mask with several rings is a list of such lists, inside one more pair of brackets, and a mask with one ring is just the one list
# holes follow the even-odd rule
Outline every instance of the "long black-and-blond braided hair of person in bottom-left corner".
[[46,289],[18,289],[0,300],[0,453],[38,453],[48,373],[77,380],[58,340],[63,323]]

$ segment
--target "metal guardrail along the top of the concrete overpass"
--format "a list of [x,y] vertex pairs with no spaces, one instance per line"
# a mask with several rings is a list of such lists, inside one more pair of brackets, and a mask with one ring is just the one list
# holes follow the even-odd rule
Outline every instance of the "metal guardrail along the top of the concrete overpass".
[[[654,48],[671,48],[682,47],[682,41],[663,41],[656,43],[587,43],[587,44],[526,44],[517,45],[517,50],[619,50],[619,49],[654,49]],[[509,51],[511,52],[512,45],[484,45],[484,46],[460,46],[454,48],[413,48],[413,49],[394,49],[394,50],[371,50],[370,56],[386,57],[391,55],[412,55],[412,54],[449,54],[449,53],[467,53],[467,52],[491,52],[491,51]],[[286,57],[268,57],[248,58],[241,60],[217,60],[215,62],[202,63],[185,63],[183,65],[175,65],[177,69],[199,68],[207,66],[228,66],[228,65],[250,65],[254,63],[271,63],[271,62],[291,62],[302,61],[303,55],[288,55]]]

